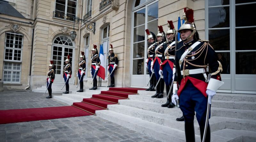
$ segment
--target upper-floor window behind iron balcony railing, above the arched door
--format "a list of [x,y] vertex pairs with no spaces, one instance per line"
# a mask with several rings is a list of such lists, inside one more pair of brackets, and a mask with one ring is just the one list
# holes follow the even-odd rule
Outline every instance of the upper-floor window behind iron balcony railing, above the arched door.
[[76,0],[56,0],[53,16],[74,20],[74,17],[76,17]]

